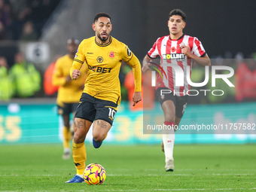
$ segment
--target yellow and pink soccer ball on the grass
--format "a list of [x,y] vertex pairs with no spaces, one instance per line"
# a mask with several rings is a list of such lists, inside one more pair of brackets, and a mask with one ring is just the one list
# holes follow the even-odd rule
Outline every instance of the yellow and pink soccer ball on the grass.
[[85,167],[83,176],[87,184],[102,184],[107,175],[103,166],[90,163]]

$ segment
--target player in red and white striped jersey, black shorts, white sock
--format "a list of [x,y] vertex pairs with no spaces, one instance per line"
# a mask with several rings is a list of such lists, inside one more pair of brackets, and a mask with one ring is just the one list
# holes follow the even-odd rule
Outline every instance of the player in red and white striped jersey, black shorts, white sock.
[[[172,10],[169,13],[169,35],[158,38],[151,50],[148,51],[148,54],[143,59],[143,72],[149,69],[148,66],[151,66],[150,62],[157,56],[161,58],[161,66],[163,62],[175,64],[180,66],[183,72],[187,71],[187,66],[192,67],[193,61],[197,62],[200,66],[211,65],[201,42],[195,37],[183,34],[183,29],[186,26],[185,20],[186,15],[179,9]],[[171,59],[166,59],[166,55],[169,55]],[[164,79],[162,79],[157,74],[157,99],[163,108],[164,124],[166,126],[178,127],[187,106],[187,91],[190,90],[190,85],[187,83],[187,80],[184,80],[184,86],[175,86],[175,71],[172,70],[171,66],[168,67],[168,65],[163,67],[163,69],[166,70],[168,76],[166,79],[163,75]],[[184,77],[186,78],[186,75]],[[171,90],[172,93],[161,95],[161,90]],[[166,156],[166,172],[174,171],[174,160],[172,157],[174,141],[175,129],[170,130],[168,134],[163,134],[162,151],[164,151]]]

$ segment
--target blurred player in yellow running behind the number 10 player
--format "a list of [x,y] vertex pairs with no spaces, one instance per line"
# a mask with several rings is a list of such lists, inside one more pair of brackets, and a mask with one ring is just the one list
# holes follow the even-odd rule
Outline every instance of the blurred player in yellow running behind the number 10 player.
[[[53,72],[53,85],[59,86],[56,103],[58,105],[58,114],[62,115],[63,127],[63,159],[69,159],[71,154],[70,141],[72,140],[72,132],[70,130],[70,114],[74,113],[78,106],[79,99],[84,90],[84,81],[86,78],[86,67],[81,68],[81,77],[76,81],[71,81],[69,70],[72,67],[75,53],[78,50],[79,41],[70,38],[67,41],[68,54],[60,57],[56,61]],[[73,115],[74,115],[73,114]]]

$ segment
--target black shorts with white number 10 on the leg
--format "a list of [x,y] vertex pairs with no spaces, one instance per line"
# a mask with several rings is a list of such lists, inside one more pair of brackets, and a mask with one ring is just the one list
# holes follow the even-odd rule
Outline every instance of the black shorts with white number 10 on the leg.
[[96,99],[87,93],[83,93],[75,117],[89,120],[90,122],[94,120],[105,120],[112,125],[116,112],[116,103]]

